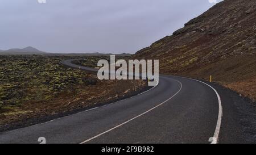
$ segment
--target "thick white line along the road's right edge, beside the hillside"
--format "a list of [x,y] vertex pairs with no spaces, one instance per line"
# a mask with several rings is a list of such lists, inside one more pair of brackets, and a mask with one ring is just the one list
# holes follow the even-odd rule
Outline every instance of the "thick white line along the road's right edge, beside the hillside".
[[[173,77],[179,77],[179,76],[173,76]],[[187,77],[181,77],[181,78],[187,78]],[[187,78],[187,79],[192,79],[192,80],[194,80],[194,81],[198,81],[198,82],[204,83],[205,85],[207,85],[207,86],[209,86],[211,89],[213,89],[214,92],[215,92],[216,95],[217,95],[217,98],[218,98],[218,120],[217,120],[217,125],[216,125],[215,131],[214,131],[214,135],[213,135],[213,138],[214,138],[214,139],[212,139],[212,143],[210,143],[210,144],[217,144],[217,143],[218,143],[218,136],[220,135],[221,119],[222,119],[222,116],[223,116],[222,104],[221,104],[220,95],[218,94],[218,92],[217,92],[216,89],[214,89],[212,86],[208,85],[207,83],[205,83],[205,82],[203,82],[203,81],[199,81],[199,80],[193,79],[193,78]]]

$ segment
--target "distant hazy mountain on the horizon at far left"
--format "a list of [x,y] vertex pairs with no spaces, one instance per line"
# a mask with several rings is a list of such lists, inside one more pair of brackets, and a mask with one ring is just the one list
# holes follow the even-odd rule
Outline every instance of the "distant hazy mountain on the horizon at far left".
[[38,54],[38,53],[45,53],[43,51],[39,51],[34,47],[26,47],[26,48],[12,48],[8,50],[0,50],[1,53],[5,54]]

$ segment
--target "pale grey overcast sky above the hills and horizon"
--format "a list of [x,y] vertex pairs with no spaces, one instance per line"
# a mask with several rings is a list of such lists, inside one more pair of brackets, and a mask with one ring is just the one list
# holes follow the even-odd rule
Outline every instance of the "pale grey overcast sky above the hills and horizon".
[[0,1],[0,49],[134,53],[214,5],[208,0],[46,1]]

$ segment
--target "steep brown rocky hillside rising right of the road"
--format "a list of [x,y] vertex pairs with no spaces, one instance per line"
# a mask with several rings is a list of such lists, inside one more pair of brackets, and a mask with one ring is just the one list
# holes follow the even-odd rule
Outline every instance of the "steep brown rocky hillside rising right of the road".
[[225,0],[138,51],[160,72],[220,82],[256,99],[256,1]]

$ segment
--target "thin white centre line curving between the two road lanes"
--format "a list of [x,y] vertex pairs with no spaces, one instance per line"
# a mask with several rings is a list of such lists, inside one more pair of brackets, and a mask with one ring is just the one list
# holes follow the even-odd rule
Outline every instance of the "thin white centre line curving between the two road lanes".
[[[176,79],[174,79],[174,80],[177,81]],[[142,115],[144,115],[144,114],[147,114],[148,112],[150,112],[150,111],[154,110],[155,108],[161,106],[162,104],[166,103],[168,100],[174,98],[175,95],[177,95],[177,94],[180,92],[180,90],[182,89],[182,83],[181,83],[180,81],[177,81],[177,82],[180,83],[180,89],[179,89],[179,91],[177,91],[177,93],[175,93],[174,95],[172,95],[172,97],[168,98],[167,100],[165,100],[164,102],[158,104],[157,106],[152,107],[150,110],[147,110],[147,111],[143,112],[142,114],[140,114],[140,115],[138,115],[138,116],[135,116],[135,117],[132,118],[132,119],[127,120],[127,121],[124,122],[124,123],[121,123],[121,124],[119,124],[119,125],[117,125],[117,126],[111,128],[111,129],[109,129],[109,130],[107,130],[107,131],[105,131],[105,132],[102,132],[102,133],[100,133],[100,134],[98,134],[98,135],[96,135],[96,136],[94,136],[94,137],[92,137],[92,138],[90,138],[90,139],[88,139],[88,140],[85,140],[85,141],[83,141],[83,142],[80,143],[80,144],[85,144],[85,143],[87,143],[88,141],[91,141],[91,140],[93,140],[93,139],[96,139],[97,137],[100,137],[101,135],[104,135],[105,133],[108,133],[108,132],[112,131],[113,129],[116,129],[116,128],[118,128],[118,127],[121,127],[122,125],[125,125],[126,123],[129,123],[129,122],[131,122],[132,120],[137,119],[137,118],[139,118],[140,116],[142,116]]]

